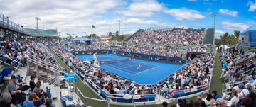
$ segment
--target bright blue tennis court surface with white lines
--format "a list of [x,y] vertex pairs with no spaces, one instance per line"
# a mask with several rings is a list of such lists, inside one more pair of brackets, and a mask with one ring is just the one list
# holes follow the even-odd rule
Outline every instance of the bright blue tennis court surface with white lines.
[[[92,60],[93,55],[78,55],[77,57],[82,60]],[[120,60],[127,57],[122,57],[114,54],[100,54],[98,60]],[[141,62],[141,69],[139,67]],[[125,62],[117,62],[110,64],[100,64],[102,69],[117,74],[121,77],[136,81],[139,84],[156,84],[156,82],[169,76],[176,69],[179,69],[183,64],[166,64],[160,62],[150,62],[146,60],[129,60]]]

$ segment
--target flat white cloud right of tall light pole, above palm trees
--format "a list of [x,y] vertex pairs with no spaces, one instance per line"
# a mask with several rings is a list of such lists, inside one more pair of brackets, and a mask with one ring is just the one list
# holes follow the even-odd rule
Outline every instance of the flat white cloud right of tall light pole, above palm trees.
[[223,21],[221,25],[222,28],[226,30],[245,30],[246,28],[250,27],[245,23],[233,23],[228,21]]

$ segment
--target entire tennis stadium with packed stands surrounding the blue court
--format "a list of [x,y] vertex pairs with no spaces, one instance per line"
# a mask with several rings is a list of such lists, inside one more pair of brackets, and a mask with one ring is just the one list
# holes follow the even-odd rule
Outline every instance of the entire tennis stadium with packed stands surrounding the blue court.
[[139,29],[119,46],[31,38],[58,31],[2,14],[0,29],[0,106],[256,105],[255,51],[213,50],[213,28]]

